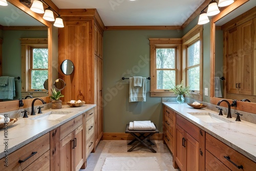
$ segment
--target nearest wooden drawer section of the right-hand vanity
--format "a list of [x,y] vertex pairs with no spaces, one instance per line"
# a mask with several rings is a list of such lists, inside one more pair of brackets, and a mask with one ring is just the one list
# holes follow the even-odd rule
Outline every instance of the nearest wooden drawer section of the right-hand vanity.
[[[206,170],[255,170],[256,163],[252,160],[208,133],[205,138]],[[243,169],[234,164],[243,166]]]

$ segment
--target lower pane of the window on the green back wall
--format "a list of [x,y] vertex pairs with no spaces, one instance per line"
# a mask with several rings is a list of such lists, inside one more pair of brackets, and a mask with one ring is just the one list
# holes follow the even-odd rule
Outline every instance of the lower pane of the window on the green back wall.
[[157,89],[172,89],[175,86],[175,71],[157,71]]

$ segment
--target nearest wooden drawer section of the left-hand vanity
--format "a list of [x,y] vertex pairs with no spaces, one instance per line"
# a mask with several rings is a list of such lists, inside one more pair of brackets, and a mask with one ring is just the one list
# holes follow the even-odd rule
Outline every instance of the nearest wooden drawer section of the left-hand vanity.
[[6,158],[0,160],[0,170],[50,170],[50,133],[9,154],[8,167],[5,161]]

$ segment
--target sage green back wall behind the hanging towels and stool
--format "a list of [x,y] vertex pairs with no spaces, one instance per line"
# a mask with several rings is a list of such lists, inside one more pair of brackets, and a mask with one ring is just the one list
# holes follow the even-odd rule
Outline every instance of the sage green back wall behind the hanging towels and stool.
[[147,80],[146,102],[129,102],[130,76],[150,76],[148,38],[180,38],[181,31],[131,30],[104,31],[103,34],[103,103],[104,133],[124,133],[134,120],[151,120],[162,131],[162,103],[150,97]]

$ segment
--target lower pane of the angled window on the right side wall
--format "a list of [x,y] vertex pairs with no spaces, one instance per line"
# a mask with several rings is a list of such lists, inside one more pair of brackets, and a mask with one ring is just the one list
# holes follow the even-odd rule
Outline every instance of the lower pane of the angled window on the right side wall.
[[200,67],[188,69],[188,86],[190,90],[200,90]]

